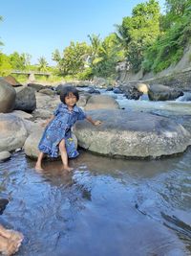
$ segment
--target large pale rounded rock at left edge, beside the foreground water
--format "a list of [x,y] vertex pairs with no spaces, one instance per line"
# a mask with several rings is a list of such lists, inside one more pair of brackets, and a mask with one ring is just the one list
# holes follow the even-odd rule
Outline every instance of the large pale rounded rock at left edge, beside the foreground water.
[[22,148],[28,132],[21,118],[11,114],[0,114],[0,151]]

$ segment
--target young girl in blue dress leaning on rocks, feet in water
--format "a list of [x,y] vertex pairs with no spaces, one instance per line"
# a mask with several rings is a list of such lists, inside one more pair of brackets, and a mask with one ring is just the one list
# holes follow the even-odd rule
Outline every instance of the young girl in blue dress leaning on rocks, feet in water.
[[73,169],[68,165],[68,157],[72,158],[78,155],[75,150],[74,141],[71,135],[71,128],[77,120],[86,119],[94,126],[101,124],[100,121],[94,121],[76,105],[79,100],[78,91],[72,86],[64,87],[60,93],[61,104],[53,112],[53,116],[48,121],[43,136],[39,142],[40,151],[35,165],[35,169],[42,171],[42,158],[44,153],[52,157],[57,157],[60,151],[63,168],[66,171]]

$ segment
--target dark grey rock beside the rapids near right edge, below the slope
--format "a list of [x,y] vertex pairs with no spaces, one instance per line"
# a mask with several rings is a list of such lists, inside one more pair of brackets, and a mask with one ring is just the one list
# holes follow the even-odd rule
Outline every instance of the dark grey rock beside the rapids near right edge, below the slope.
[[150,101],[170,101],[175,100],[182,95],[182,91],[162,84],[150,85],[148,90]]

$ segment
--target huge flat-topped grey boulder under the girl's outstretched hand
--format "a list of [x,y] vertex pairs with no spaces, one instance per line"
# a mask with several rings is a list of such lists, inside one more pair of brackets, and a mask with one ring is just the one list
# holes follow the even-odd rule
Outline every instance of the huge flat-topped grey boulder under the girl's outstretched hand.
[[89,151],[117,157],[159,157],[185,151],[191,135],[168,118],[126,110],[89,111],[103,123],[94,127],[78,121],[74,127],[78,145]]

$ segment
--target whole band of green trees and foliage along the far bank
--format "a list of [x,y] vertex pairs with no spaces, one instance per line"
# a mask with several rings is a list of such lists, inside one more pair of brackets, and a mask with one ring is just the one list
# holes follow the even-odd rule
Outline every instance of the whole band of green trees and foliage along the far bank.
[[121,24],[115,25],[115,32],[105,38],[88,35],[90,43],[71,41],[61,53],[54,50],[56,67],[49,67],[44,57],[32,66],[29,54],[0,53],[0,74],[11,69],[37,69],[79,80],[115,78],[120,61],[126,61],[134,73],[140,69],[143,73],[158,73],[177,63],[190,44],[190,20],[191,0],[166,0],[163,13],[157,0],[149,0],[138,4],[132,15],[123,17]]

